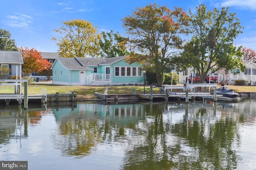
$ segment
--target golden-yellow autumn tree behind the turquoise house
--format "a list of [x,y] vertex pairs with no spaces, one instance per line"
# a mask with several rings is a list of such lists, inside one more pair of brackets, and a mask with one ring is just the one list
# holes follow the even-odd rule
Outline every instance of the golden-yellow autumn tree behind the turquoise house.
[[92,23],[77,19],[63,21],[62,24],[62,27],[54,29],[59,37],[52,38],[59,47],[61,57],[98,56],[100,34]]

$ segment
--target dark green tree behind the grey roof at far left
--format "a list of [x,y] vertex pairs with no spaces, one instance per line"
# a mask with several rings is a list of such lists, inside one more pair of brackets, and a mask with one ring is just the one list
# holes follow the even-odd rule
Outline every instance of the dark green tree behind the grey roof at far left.
[[2,51],[19,51],[15,40],[10,39],[11,33],[5,29],[0,29],[0,50]]

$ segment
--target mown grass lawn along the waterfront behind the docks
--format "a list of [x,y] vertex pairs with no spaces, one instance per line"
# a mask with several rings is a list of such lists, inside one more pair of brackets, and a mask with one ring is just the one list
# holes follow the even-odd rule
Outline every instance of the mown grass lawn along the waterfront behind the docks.
[[[183,86],[183,84],[180,84]],[[234,89],[234,92],[256,92],[256,86],[231,86],[225,85],[228,89]],[[218,86],[217,89],[221,87]],[[104,94],[105,86],[60,86],[53,84],[31,84],[28,86],[28,94],[40,94],[41,89],[45,89],[47,94],[60,94],[74,92],[77,94],[77,100],[97,99],[94,96],[94,92]],[[133,94],[133,90],[136,94],[144,93],[144,86],[107,86],[108,94]],[[159,94],[160,88],[153,88],[153,94]],[[0,93],[14,93],[14,86],[1,86]],[[24,87],[22,87],[22,93],[24,93]],[[145,86],[145,93],[150,94],[150,86]]]

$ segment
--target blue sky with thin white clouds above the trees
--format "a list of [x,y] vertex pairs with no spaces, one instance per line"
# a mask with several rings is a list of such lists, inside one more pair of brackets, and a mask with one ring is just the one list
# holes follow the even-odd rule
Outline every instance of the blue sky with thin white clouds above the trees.
[[136,7],[156,3],[173,10],[182,7],[185,12],[205,4],[209,10],[229,6],[236,13],[243,33],[235,40],[236,45],[256,50],[256,0],[5,0],[1,2],[0,28],[11,33],[18,47],[35,48],[40,52],[57,52],[54,29],[62,21],[84,19],[98,31],[119,32],[126,36],[122,20],[131,15]]

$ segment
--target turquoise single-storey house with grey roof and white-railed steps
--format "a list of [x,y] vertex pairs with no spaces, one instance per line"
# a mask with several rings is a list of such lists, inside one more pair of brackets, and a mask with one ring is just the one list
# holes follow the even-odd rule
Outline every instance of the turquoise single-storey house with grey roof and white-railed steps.
[[144,84],[142,66],[138,63],[129,64],[125,62],[126,57],[58,57],[51,67],[52,84]]

